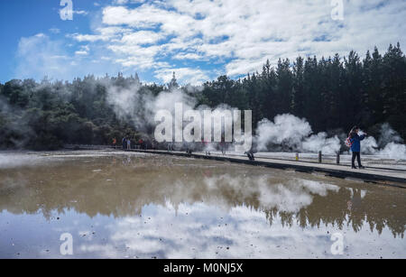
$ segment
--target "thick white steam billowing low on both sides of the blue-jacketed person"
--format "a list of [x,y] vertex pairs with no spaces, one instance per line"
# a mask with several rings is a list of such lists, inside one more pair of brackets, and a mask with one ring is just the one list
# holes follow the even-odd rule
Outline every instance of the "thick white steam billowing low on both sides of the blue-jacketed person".
[[[325,154],[335,154],[344,145],[340,137],[346,137],[346,134],[328,137],[325,132],[312,133],[306,119],[289,114],[277,115],[273,122],[263,119],[258,124],[255,143],[258,151],[321,151]],[[401,136],[389,124],[381,126],[380,134],[378,141],[373,136],[367,136],[362,142],[362,152],[406,160],[406,145],[402,144]]]

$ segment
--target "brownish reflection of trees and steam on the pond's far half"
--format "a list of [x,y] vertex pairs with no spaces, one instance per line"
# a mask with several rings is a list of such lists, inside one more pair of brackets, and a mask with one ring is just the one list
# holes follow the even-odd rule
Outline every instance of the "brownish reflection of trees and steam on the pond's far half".
[[141,215],[149,204],[177,208],[204,202],[220,208],[245,206],[280,217],[291,227],[364,225],[382,234],[386,226],[403,238],[406,192],[291,171],[175,157],[115,154],[50,158],[0,170],[0,208],[13,214],[51,217],[74,209],[97,214]]

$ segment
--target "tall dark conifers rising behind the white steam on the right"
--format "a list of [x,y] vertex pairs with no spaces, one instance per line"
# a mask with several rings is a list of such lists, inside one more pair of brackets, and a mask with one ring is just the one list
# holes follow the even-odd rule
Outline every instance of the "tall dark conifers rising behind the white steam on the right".
[[252,109],[254,123],[291,113],[308,119],[315,132],[361,125],[374,134],[387,122],[405,138],[406,58],[398,43],[384,55],[375,47],[364,59],[351,51],[343,59],[279,60],[275,68],[267,60],[261,72],[246,78],[206,83],[199,100]]

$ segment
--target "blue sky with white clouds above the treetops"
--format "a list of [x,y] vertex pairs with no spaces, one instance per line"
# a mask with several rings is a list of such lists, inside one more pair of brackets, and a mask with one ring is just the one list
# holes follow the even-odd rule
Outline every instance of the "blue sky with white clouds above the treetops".
[[268,59],[405,49],[405,18],[405,0],[3,0],[0,82],[175,71],[196,85]]

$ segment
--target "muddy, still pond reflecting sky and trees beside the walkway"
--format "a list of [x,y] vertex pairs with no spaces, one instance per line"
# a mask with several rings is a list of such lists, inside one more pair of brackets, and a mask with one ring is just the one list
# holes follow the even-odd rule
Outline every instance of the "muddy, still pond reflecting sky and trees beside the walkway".
[[406,189],[227,162],[0,153],[0,211],[1,258],[406,257]]

